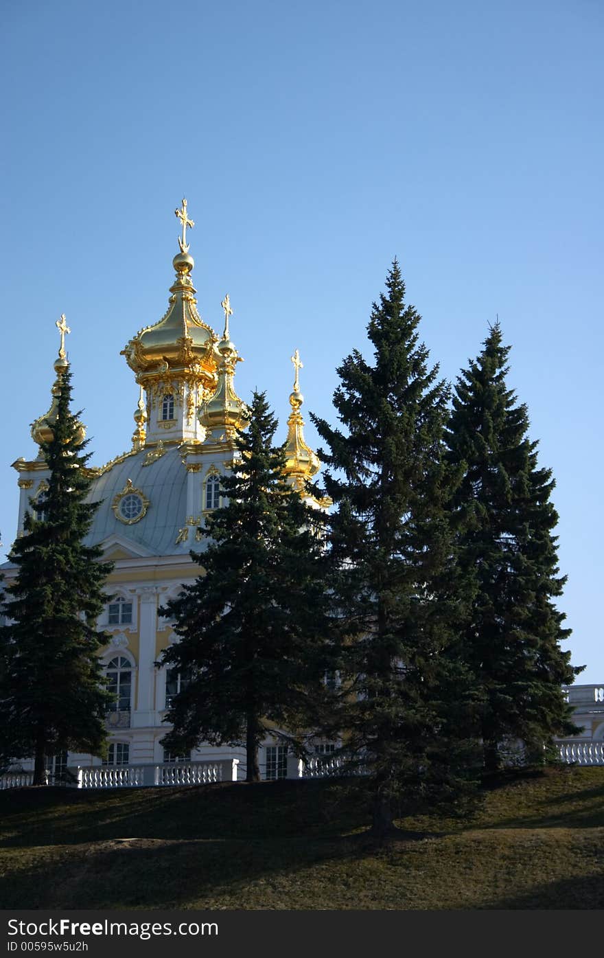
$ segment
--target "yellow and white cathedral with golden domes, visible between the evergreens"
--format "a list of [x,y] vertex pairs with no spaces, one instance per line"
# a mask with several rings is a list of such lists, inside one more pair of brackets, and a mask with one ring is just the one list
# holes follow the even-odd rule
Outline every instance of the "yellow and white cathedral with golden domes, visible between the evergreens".
[[[201,743],[190,755],[175,756],[160,741],[169,728],[163,719],[170,698],[178,694],[186,676],[160,664],[162,651],[178,637],[158,610],[178,595],[183,583],[192,582],[199,574],[190,550],[205,548],[200,527],[208,513],[221,504],[219,477],[233,463],[235,430],[244,425],[246,413],[235,390],[240,357],[229,330],[229,296],[222,302],[224,330],[218,335],[196,308],[191,278],[194,263],[187,241],[193,223],[186,200],[175,213],[182,236],[172,261],[175,277],[169,287],[168,308],[157,323],[137,332],[122,351],[140,387],[132,447],[101,468],[91,468],[90,501],[101,501],[101,506],[86,543],[101,545],[104,558],[114,563],[105,583],[107,602],[98,623],[109,636],[101,661],[116,696],[107,715],[109,750],[103,762],[73,753],[49,758],[51,775],[66,766],[78,770],[81,780],[83,769],[89,784],[202,781],[194,775],[199,763],[213,763],[214,778],[218,768],[219,778],[232,779],[237,777],[237,763],[245,763],[244,748]],[[57,383],[68,366],[65,335],[69,328],[64,316],[56,326],[60,347],[53,399],[48,412],[32,426],[36,444],[52,438]],[[292,362],[295,375],[287,420],[287,481],[310,505],[324,508],[327,503],[313,499],[306,490],[307,481],[319,469],[319,460],[304,442],[298,350]],[[47,488],[49,471],[41,450],[34,459],[17,459],[12,467],[18,473],[20,490],[20,536],[26,511],[35,510],[36,497]],[[4,571],[10,582],[10,563]],[[284,747],[278,741],[265,741],[260,765],[265,777],[284,777]],[[130,769],[131,774],[134,766],[138,769],[136,781],[126,782],[123,774],[120,778],[120,770]],[[24,770],[28,767],[29,763],[23,764]],[[242,772],[241,767],[239,778]]]

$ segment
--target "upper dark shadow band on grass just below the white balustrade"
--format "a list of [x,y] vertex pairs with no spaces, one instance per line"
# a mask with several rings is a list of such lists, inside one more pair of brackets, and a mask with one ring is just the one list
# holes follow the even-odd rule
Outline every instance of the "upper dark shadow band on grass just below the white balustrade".
[[336,835],[367,824],[337,783],[281,781],[199,787],[14,789],[0,793],[0,845],[74,845],[137,838]]

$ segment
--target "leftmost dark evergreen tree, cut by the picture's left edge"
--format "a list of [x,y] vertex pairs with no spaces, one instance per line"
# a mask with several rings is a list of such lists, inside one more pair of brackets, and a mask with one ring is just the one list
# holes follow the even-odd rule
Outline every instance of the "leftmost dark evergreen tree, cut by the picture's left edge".
[[105,636],[96,629],[101,586],[112,563],[85,546],[99,503],[85,501],[90,457],[77,416],[70,411],[71,372],[59,371],[53,439],[41,444],[50,469],[48,490],[27,512],[11,562],[2,628],[0,699],[6,758],[34,755],[34,785],[45,781],[46,757],[72,749],[101,755],[105,712],[112,696],[102,684],[97,653]]

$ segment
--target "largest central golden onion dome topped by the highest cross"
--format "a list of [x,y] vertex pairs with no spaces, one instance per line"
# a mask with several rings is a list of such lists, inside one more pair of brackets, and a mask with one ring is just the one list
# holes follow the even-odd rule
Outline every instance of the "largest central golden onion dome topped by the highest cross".
[[173,259],[176,278],[170,286],[168,310],[153,326],[137,332],[125,346],[122,354],[145,385],[159,377],[187,380],[191,376],[205,389],[215,387],[216,357],[214,344],[218,337],[203,322],[197,311],[195,288],[190,273],[194,266],[186,242],[187,227],[193,222],[187,216],[187,200],[181,210],[175,210],[183,224],[183,239],[178,240],[180,253]]

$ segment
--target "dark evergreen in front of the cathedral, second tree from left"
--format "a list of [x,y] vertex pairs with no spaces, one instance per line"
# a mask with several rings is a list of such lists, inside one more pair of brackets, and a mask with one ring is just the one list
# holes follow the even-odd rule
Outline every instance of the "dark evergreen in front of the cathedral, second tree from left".
[[255,393],[239,457],[221,477],[228,503],[208,517],[206,551],[191,552],[203,572],[163,610],[181,636],[163,662],[188,679],[163,742],[175,752],[244,742],[248,782],[259,780],[268,733],[316,718],[328,667],[321,514],[283,478],[277,425]]

